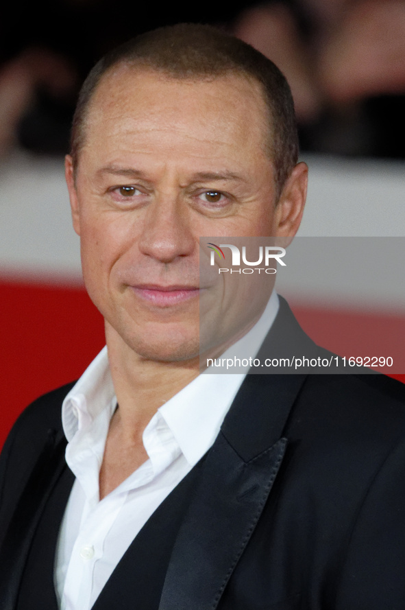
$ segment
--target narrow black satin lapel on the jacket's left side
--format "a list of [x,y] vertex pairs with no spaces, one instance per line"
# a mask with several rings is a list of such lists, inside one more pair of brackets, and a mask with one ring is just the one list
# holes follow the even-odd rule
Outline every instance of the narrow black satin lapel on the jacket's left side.
[[29,548],[45,504],[64,465],[64,434],[49,430],[47,442],[16,505],[0,552],[0,609],[13,610]]

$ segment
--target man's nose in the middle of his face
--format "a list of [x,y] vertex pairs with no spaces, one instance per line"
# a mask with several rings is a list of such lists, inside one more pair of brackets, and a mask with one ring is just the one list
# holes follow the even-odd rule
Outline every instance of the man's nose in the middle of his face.
[[191,256],[197,249],[191,229],[188,210],[180,198],[156,196],[145,211],[140,251],[162,263]]

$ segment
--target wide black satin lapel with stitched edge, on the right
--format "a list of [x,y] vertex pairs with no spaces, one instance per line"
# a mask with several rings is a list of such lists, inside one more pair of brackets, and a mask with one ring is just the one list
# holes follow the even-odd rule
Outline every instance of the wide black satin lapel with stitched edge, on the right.
[[280,438],[304,375],[247,376],[206,456],[159,610],[214,610],[280,468]]

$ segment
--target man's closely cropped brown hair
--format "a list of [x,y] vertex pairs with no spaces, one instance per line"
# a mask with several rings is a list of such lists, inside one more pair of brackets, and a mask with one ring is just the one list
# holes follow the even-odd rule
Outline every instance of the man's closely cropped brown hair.
[[275,64],[242,40],[199,23],[159,27],[112,49],[90,71],[79,93],[71,132],[71,156],[77,166],[84,145],[89,103],[102,76],[118,64],[160,71],[178,80],[206,80],[234,73],[256,80],[269,110],[267,149],[280,194],[297,163],[298,136],[293,97]]

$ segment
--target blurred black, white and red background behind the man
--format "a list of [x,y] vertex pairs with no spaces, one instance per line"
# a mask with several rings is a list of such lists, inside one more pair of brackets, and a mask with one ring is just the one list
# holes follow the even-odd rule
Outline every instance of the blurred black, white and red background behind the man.
[[[404,236],[404,1],[9,3],[0,24],[0,445],[29,401],[77,378],[103,346],[63,177],[79,87],[110,48],[179,21],[236,34],[289,80],[310,167],[299,235]],[[392,290],[384,282],[382,295],[378,277],[369,279],[363,307],[354,289],[311,277],[310,290],[295,291],[293,309],[315,340],[322,316],[319,340],[336,353],[360,341],[376,352],[367,355],[389,356],[405,339],[398,281]],[[371,328],[380,344],[367,343]],[[393,376],[405,381],[405,371]]]

